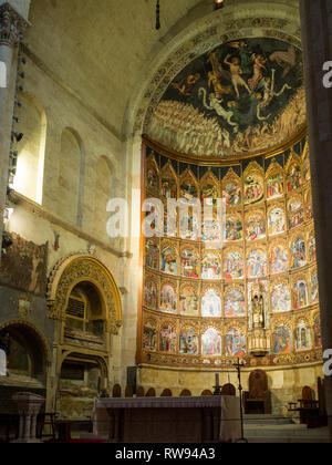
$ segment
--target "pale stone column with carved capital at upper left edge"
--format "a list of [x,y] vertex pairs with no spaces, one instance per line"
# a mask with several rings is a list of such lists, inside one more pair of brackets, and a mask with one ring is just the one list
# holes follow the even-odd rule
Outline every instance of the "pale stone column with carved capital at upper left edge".
[[[25,0],[24,0],[25,1]],[[6,70],[6,87],[0,89],[0,240],[3,231],[9,152],[12,127],[15,63],[13,49],[23,39],[28,22],[12,8],[10,2],[0,2],[0,62]],[[1,259],[0,247],[0,259]]]

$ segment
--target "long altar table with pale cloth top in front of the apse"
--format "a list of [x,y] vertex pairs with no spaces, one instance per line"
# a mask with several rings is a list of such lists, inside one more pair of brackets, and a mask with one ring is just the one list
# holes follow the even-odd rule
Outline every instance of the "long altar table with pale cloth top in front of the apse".
[[241,437],[240,400],[204,397],[97,399],[93,432],[113,443],[226,443]]

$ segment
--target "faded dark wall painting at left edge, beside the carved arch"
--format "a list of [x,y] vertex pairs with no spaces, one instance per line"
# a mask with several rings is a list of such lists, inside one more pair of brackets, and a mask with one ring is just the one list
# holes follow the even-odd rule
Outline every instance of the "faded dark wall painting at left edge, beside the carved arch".
[[12,245],[1,258],[0,283],[44,297],[49,242],[38,246],[14,232],[10,237]]

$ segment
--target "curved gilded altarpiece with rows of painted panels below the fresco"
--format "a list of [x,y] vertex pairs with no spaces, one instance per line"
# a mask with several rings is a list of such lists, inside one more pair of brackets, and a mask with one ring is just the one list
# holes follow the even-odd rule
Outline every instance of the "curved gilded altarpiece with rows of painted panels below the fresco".
[[[162,200],[166,220],[164,236],[144,238],[142,248],[142,363],[214,368],[237,358],[249,365],[318,360],[319,282],[305,132],[280,153],[211,167],[184,163],[148,144],[143,196]],[[167,235],[167,199],[198,199],[204,214],[204,205],[217,208],[220,197],[222,227],[214,228],[214,209],[200,220],[200,207],[183,217],[178,208]],[[250,353],[258,323],[268,339],[259,362]]]

